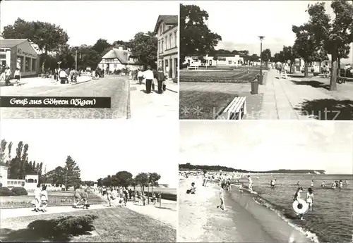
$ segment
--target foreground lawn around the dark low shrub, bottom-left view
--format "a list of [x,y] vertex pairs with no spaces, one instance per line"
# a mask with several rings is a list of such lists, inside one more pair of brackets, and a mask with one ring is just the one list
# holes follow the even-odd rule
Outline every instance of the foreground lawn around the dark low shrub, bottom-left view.
[[[87,211],[60,213],[60,216],[85,216]],[[128,208],[104,208],[90,211],[97,216],[94,232],[71,237],[69,242],[176,242],[177,230]],[[28,229],[35,220],[52,220],[56,215],[43,214],[1,220],[0,239],[3,242],[55,242],[40,232]],[[43,232],[44,233],[44,232]]]

